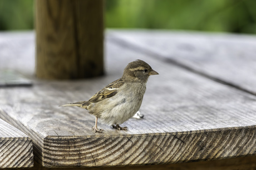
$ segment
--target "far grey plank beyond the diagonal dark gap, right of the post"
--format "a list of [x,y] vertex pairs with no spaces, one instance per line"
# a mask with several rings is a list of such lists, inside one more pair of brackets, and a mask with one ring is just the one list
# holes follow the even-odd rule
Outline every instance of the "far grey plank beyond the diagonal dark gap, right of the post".
[[110,31],[117,44],[256,94],[255,35],[152,30]]

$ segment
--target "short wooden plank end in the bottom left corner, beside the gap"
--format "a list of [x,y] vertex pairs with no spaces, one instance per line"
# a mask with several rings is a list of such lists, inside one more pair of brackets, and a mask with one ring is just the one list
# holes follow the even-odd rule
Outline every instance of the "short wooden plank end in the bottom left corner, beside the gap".
[[33,167],[32,141],[0,119],[0,168]]

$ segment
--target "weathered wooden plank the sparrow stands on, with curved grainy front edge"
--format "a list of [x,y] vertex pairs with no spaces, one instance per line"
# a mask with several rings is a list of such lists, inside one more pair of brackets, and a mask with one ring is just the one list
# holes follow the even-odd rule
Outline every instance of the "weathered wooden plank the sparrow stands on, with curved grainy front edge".
[[[43,166],[161,164],[256,153],[254,95],[121,48],[109,40],[106,56],[108,74],[102,78],[33,79],[35,85],[29,88],[0,89],[0,117],[33,139],[35,157]],[[58,107],[88,99],[119,78],[126,64],[135,59],[147,61],[160,75],[150,78],[147,85],[141,107],[144,119],[124,123],[129,131],[116,131],[99,123],[105,133],[95,134],[91,130],[94,117],[86,110]]]

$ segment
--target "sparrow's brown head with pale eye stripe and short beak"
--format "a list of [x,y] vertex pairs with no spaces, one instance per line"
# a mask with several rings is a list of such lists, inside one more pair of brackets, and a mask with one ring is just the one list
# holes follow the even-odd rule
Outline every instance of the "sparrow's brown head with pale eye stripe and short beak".
[[126,81],[137,81],[146,83],[150,75],[157,75],[158,73],[151,68],[149,64],[142,60],[136,60],[129,63],[122,75],[122,79]]

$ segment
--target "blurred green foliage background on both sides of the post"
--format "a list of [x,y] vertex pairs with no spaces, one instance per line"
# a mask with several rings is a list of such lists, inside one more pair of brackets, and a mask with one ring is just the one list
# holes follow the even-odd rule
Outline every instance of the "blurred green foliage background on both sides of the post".
[[[0,0],[0,30],[33,29],[34,0]],[[256,33],[255,0],[106,0],[107,28]]]

